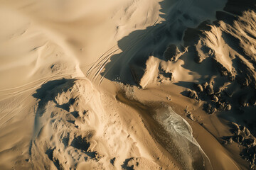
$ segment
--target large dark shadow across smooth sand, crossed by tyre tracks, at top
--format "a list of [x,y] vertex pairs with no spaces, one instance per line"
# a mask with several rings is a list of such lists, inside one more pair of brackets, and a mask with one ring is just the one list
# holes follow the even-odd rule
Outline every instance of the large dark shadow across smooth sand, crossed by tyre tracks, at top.
[[[136,84],[137,79],[131,72],[144,72],[146,60],[156,57],[156,63],[166,61],[164,52],[170,44],[181,45],[187,28],[196,28],[207,19],[215,19],[215,11],[225,6],[225,1],[161,1],[161,21],[146,29],[135,30],[118,41],[122,50],[112,55],[110,61],[97,62],[105,65],[102,77],[124,84]],[[194,11],[197,11],[196,13]],[[159,59],[159,60],[158,60]],[[106,62],[108,62],[106,64]],[[103,64],[103,65],[102,65]],[[134,67],[136,69],[134,71]],[[187,72],[183,70],[183,72]],[[139,74],[139,73],[138,73]],[[100,78],[99,78],[100,79]],[[133,82],[133,83],[132,83]]]

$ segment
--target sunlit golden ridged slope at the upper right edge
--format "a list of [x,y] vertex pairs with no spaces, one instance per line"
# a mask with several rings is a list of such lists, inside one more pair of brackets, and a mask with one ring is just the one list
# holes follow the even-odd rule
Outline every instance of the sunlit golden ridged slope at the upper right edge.
[[195,45],[196,62],[201,63],[209,57],[216,62],[223,76],[228,76],[231,81],[238,79],[239,83],[254,88],[255,12],[246,11],[242,16],[218,12],[217,18],[219,21],[214,25],[206,22],[188,30],[185,45]]

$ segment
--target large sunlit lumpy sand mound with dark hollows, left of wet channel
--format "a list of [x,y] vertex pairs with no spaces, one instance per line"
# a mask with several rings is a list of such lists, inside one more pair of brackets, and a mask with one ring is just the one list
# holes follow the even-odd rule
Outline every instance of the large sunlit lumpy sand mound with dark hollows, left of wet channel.
[[[160,169],[117,111],[105,111],[90,81],[46,86],[34,94],[41,101],[28,160],[33,169]],[[41,98],[42,93],[47,94]]]

